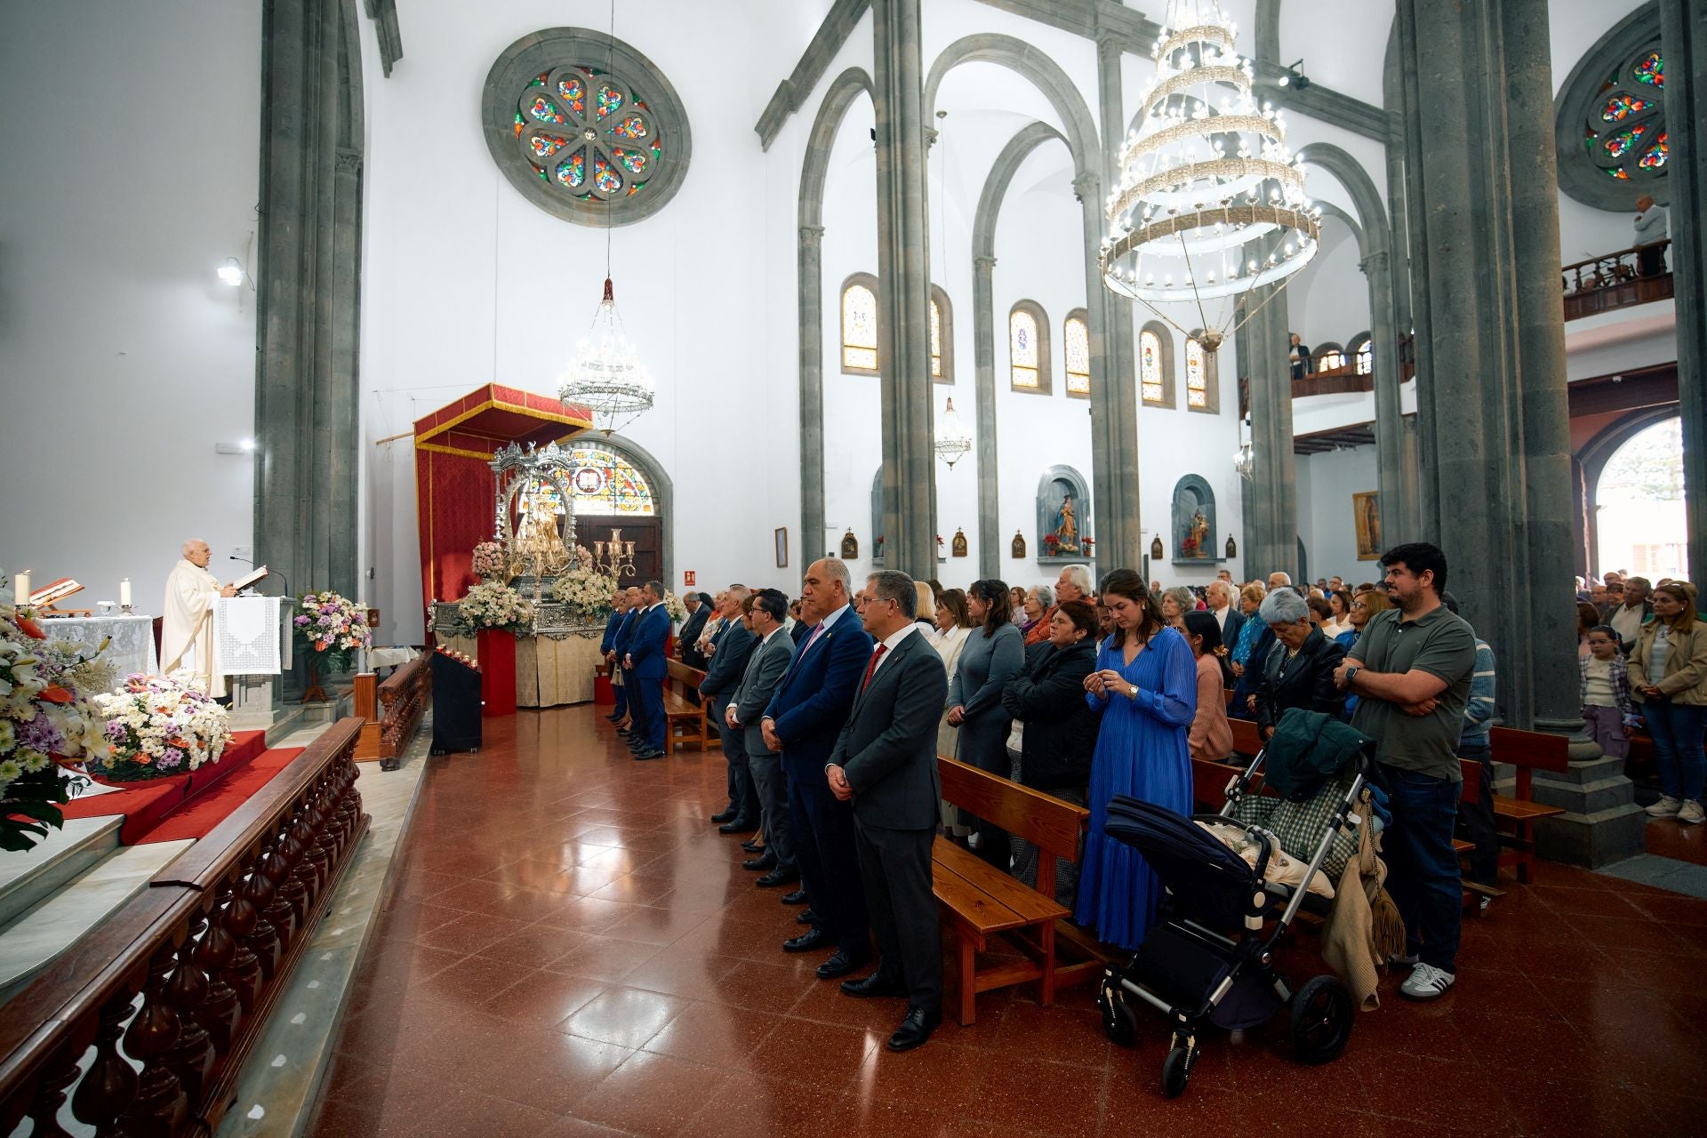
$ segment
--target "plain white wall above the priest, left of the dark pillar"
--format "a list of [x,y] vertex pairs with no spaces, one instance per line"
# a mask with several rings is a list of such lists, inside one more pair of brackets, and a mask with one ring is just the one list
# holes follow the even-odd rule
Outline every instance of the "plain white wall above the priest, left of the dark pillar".
[[[75,67],[72,67],[75,61]],[[258,3],[0,5],[0,565],[159,613],[253,544]]]

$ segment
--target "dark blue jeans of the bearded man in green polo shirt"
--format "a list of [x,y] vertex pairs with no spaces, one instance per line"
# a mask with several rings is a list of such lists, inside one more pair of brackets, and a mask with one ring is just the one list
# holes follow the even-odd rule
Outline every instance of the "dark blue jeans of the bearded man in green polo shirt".
[[1386,889],[1405,918],[1405,952],[1453,973],[1465,892],[1453,853],[1458,783],[1386,764],[1381,778],[1393,809],[1393,826],[1383,841]]

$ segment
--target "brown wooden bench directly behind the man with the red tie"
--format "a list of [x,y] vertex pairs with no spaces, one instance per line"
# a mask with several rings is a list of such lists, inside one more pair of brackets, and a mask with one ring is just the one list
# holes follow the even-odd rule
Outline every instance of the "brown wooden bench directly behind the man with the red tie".
[[[1079,833],[1091,812],[1029,787],[988,775],[975,766],[937,756],[942,797],[1002,829],[1038,846],[1038,885],[1026,887],[978,855],[939,836],[930,851],[932,887],[942,909],[942,923],[956,943],[956,978],[959,1022],[978,1019],[980,991],[1040,981],[1038,1003],[1055,1003],[1058,983],[1077,983],[1101,974],[1103,959],[1058,966],[1055,959],[1055,923],[1069,916],[1055,901],[1055,858],[1079,860]],[[1002,937],[1024,954],[1022,961],[1005,961],[978,967],[978,954]]]

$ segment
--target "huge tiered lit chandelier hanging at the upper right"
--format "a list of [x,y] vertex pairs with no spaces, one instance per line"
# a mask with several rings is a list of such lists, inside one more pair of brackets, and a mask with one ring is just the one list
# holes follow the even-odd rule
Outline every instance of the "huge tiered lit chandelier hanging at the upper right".
[[1127,136],[1108,196],[1103,282],[1176,328],[1157,305],[1195,304],[1197,340],[1215,351],[1238,326],[1236,307],[1224,305],[1232,311],[1217,321],[1205,302],[1304,268],[1321,210],[1304,196],[1284,118],[1251,94],[1255,68],[1234,51],[1234,26],[1217,0],[1173,0],[1151,55],[1144,125]]

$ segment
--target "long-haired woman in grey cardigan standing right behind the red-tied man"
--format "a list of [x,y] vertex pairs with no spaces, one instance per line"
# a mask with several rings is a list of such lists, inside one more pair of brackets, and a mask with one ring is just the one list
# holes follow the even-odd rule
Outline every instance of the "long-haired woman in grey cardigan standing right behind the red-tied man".
[[[949,725],[958,727],[959,761],[1007,778],[1009,715],[1002,708],[1002,689],[1026,665],[1024,636],[1009,621],[1007,585],[999,580],[975,580],[966,590],[966,613],[973,633],[961,648],[959,664],[949,681]],[[1007,833],[978,819],[978,855],[1004,874],[1011,853]]]

